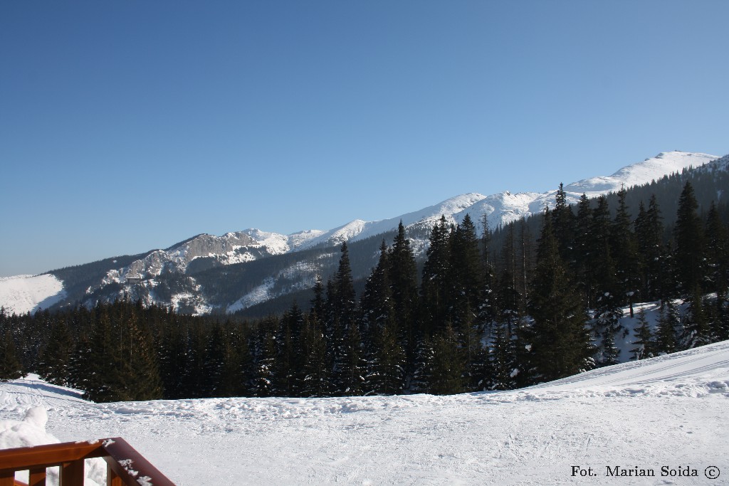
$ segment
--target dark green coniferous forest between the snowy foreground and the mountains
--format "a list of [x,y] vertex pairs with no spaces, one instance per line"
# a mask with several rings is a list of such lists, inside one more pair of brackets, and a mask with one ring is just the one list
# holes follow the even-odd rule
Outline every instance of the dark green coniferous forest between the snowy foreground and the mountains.
[[[434,224],[416,264],[402,224],[355,291],[346,243],[311,302],[257,320],[192,316],[120,300],[53,313],[0,312],[0,378],[37,372],[93,401],[505,390],[729,339],[726,206],[699,211],[687,182],[675,223],[625,189],[566,204],[539,230],[486,219]],[[480,225],[480,231],[477,231]],[[537,233],[537,234],[535,234]],[[660,301],[657,326],[623,312]],[[686,304],[679,313],[677,304]]]

